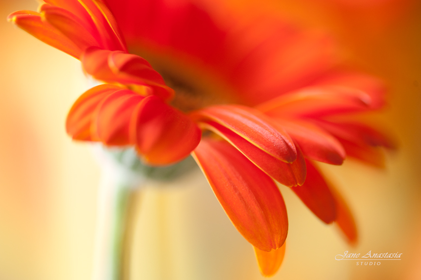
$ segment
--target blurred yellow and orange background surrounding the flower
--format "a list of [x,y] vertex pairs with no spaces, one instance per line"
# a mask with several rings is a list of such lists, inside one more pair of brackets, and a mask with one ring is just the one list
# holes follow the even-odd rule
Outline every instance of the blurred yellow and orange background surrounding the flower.
[[[230,1],[242,12],[264,10],[331,32],[349,61],[388,84],[389,105],[377,119],[400,146],[385,170],[352,161],[326,166],[354,210],[356,248],[281,187],[289,233],[274,279],[421,279],[420,3],[347,10],[333,2]],[[35,0],[0,0],[0,280],[88,280],[100,169],[89,145],[72,142],[64,129],[86,84],[79,61],[5,20],[12,11],[36,8]],[[141,194],[132,279],[262,279],[251,245],[200,172],[173,185]],[[334,260],[346,250],[403,255],[359,267]]]

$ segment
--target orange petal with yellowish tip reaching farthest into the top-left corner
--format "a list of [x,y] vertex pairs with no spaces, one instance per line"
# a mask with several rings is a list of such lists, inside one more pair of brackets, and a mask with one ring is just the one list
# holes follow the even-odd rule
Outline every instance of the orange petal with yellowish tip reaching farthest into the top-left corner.
[[43,21],[40,13],[33,11],[16,11],[11,13],[7,19],[35,38],[79,59],[82,49],[76,46],[70,39],[49,23]]

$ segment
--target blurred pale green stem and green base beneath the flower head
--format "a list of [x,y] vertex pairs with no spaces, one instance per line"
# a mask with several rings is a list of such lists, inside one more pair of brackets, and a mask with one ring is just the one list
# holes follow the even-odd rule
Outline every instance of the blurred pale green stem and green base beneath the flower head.
[[131,232],[136,198],[148,181],[171,182],[196,166],[186,160],[167,167],[142,164],[134,149],[94,150],[102,165],[98,189],[93,280],[129,280]]

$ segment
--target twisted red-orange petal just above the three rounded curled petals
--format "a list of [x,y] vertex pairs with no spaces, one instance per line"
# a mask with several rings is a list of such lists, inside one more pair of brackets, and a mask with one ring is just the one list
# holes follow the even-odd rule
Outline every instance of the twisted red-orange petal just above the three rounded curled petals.
[[[164,100],[174,95],[174,91],[165,85],[161,75],[140,56],[90,47],[84,51],[81,61],[85,71],[98,80],[120,83],[140,94],[154,94]],[[142,88],[134,87],[136,85]],[[151,91],[145,91],[145,86]]]

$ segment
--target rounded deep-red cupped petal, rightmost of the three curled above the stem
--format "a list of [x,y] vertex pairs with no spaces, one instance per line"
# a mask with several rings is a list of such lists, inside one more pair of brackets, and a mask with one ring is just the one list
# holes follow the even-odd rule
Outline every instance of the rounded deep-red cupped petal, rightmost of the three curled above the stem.
[[140,155],[151,165],[184,159],[201,138],[187,115],[154,95],[145,97],[133,111],[130,133]]

